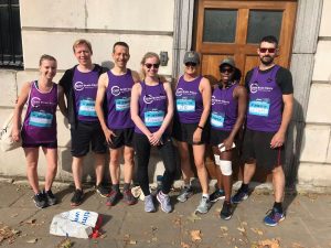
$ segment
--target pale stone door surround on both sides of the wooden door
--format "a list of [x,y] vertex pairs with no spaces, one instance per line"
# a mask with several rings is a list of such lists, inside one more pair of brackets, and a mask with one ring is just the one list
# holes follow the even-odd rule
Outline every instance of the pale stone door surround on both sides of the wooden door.
[[[192,48],[194,0],[174,0],[174,4],[172,74],[177,78],[182,69],[181,62],[184,52]],[[290,72],[292,73],[295,88],[295,111],[288,130],[285,164],[289,184],[297,181],[322,7],[323,0],[298,0],[295,40],[290,56]]]

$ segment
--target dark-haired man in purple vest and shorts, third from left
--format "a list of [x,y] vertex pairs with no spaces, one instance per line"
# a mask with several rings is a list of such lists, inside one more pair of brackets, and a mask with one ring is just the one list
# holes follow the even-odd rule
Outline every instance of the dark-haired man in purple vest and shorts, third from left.
[[[107,206],[114,206],[121,197],[125,203],[132,205],[137,200],[130,191],[134,173],[134,121],[130,115],[131,89],[140,80],[137,72],[127,68],[130,58],[129,46],[125,42],[116,42],[113,47],[114,68],[104,73],[98,80],[96,112],[99,118],[106,141],[109,145],[109,172],[111,191]],[[107,110],[103,109],[107,103]],[[124,191],[119,191],[119,161],[124,155]]]

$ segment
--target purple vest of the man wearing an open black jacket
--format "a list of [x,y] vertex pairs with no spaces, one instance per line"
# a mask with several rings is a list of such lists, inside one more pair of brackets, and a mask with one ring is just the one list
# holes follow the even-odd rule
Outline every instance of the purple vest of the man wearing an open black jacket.
[[95,99],[98,89],[98,73],[82,73],[75,68],[73,87],[75,90],[76,116],[83,121],[98,121]]

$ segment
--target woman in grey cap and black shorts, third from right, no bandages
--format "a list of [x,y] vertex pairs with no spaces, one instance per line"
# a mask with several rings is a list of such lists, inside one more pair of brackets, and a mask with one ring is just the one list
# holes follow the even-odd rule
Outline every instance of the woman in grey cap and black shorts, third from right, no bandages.
[[192,145],[194,163],[202,187],[202,198],[195,212],[205,214],[211,207],[204,153],[209,134],[206,123],[211,110],[212,89],[210,80],[199,74],[199,64],[200,57],[196,52],[185,53],[184,75],[179,78],[175,88],[173,136],[178,140],[184,180],[184,187],[177,198],[180,202],[185,202],[193,194],[190,185],[190,177],[193,172],[189,152],[189,145]]

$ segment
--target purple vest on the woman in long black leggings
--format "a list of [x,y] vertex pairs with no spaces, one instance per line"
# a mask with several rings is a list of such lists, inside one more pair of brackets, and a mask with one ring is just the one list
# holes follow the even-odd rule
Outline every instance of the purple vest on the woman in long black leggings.
[[[141,95],[139,97],[139,116],[150,132],[160,129],[167,115],[168,99],[162,83],[154,86],[141,82]],[[135,132],[143,134],[136,126]]]

